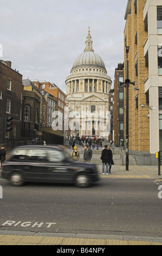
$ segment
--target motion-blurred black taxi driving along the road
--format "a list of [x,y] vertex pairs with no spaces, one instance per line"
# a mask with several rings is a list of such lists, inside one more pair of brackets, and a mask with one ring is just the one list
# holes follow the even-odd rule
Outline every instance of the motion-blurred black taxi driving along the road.
[[5,161],[2,178],[13,186],[22,186],[26,181],[73,183],[88,187],[99,180],[95,164],[71,159],[62,148],[43,145],[28,145],[14,149]]

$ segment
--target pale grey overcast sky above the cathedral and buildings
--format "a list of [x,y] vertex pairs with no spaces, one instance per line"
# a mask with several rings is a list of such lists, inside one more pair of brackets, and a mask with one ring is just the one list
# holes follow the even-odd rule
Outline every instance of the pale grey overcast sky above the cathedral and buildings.
[[124,56],[127,0],[1,0],[0,44],[23,79],[55,83],[65,80],[74,60],[84,52],[90,34],[93,48],[114,81]]

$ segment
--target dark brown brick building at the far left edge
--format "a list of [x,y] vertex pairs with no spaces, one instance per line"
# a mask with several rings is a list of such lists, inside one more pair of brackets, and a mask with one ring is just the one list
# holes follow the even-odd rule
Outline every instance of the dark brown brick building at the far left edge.
[[[22,133],[22,75],[11,69],[11,62],[0,60],[0,141],[20,137]],[[13,130],[6,131],[7,117],[13,118]]]

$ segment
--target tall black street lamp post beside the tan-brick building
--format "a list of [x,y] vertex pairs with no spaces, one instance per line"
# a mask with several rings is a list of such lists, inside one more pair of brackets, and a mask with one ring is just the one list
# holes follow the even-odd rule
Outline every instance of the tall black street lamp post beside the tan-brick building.
[[128,53],[129,53],[129,46],[126,46],[126,80],[125,82],[120,82],[120,86],[124,84],[126,88],[126,170],[129,170],[129,84],[135,85],[135,82],[130,82],[129,80],[129,69],[128,69]]

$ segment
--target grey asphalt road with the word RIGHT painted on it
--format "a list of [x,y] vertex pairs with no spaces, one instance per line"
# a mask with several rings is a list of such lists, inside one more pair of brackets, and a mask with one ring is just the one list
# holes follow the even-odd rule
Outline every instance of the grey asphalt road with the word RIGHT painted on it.
[[102,178],[89,188],[0,179],[0,230],[161,236],[161,204],[152,179]]

